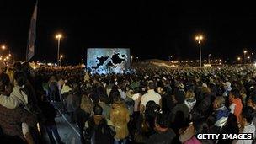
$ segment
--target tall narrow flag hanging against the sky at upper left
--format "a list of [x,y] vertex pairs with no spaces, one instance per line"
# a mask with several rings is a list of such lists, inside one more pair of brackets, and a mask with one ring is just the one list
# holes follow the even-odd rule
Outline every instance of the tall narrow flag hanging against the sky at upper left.
[[30,21],[29,38],[26,51],[26,61],[29,61],[35,54],[35,34],[36,34],[36,16],[37,16],[37,1],[35,3],[34,12]]

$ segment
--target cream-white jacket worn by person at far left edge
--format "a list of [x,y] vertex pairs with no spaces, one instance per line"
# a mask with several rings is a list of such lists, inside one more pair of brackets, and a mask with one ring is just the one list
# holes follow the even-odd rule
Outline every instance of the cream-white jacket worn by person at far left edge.
[[28,104],[28,96],[21,91],[21,87],[15,86],[10,96],[0,95],[0,104],[8,109],[15,109],[20,105]]

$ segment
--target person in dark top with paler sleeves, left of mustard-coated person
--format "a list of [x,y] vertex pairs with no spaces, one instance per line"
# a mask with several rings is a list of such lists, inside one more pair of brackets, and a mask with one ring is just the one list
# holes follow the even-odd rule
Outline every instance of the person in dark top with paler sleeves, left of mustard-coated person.
[[85,139],[88,143],[114,143],[115,127],[112,121],[102,115],[103,109],[99,105],[93,107],[93,116],[85,123]]

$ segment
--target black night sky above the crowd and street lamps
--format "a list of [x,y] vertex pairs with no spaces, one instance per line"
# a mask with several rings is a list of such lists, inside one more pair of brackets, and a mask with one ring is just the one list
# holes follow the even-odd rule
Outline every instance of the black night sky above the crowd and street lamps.
[[[53,0],[52,0],[53,1]],[[256,46],[256,11],[252,3],[177,3],[147,1],[40,0],[33,60],[56,61],[61,32],[61,54],[67,64],[86,56],[88,47],[128,47],[140,59],[197,59],[195,35],[205,35],[202,54],[234,59]],[[0,44],[25,58],[34,0],[1,0]],[[256,51],[253,51],[256,53]]]

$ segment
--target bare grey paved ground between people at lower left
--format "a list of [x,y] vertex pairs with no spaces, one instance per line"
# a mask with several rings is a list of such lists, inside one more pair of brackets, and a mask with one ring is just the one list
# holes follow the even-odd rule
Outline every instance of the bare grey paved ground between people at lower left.
[[[77,125],[69,122],[67,115],[58,115],[55,120],[61,140],[65,144],[81,144],[78,127]],[[46,143],[51,144],[47,133],[45,133],[44,139]]]

